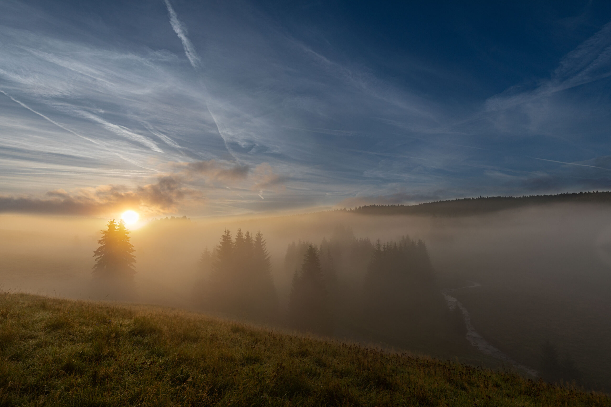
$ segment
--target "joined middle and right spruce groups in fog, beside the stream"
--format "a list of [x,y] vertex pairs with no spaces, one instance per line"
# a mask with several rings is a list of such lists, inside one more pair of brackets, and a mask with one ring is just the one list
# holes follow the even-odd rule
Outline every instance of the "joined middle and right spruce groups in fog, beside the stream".
[[464,321],[447,308],[422,240],[371,243],[337,226],[318,247],[288,245],[285,272],[294,275],[289,322],[298,329],[329,334],[349,327],[375,340],[445,348],[464,339]]

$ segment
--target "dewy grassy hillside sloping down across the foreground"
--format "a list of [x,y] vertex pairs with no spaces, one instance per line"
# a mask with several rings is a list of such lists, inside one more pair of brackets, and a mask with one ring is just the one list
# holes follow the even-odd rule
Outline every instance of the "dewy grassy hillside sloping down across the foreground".
[[611,406],[607,395],[148,306],[0,294],[0,405]]

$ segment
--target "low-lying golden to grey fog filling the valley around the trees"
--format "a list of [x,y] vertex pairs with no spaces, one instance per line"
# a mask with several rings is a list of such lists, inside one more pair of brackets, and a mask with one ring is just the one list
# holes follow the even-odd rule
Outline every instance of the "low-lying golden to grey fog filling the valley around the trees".
[[[107,221],[1,216],[2,289],[103,299],[98,298],[99,293],[92,294],[91,270],[93,250],[98,247],[100,230]],[[552,353],[557,352],[558,366],[574,361],[571,374],[577,383],[588,389],[611,389],[611,373],[607,369],[611,364],[609,206],[558,205],[455,218],[365,216],[335,211],[258,219],[148,222],[130,235],[137,259],[134,300],[201,309],[194,292],[194,287],[207,281],[199,264],[200,254],[205,248],[213,250],[225,229],[235,237],[238,228],[252,234],[261,231],[266,240],[279,298],[280,316],[274,323],[284,323],[288,312],[295,273],[295,264],[287,257],[292,242],[311,242],[321,248],[325,239],[330,245],[337,243],[340,250],[349,247],[346,242],[354,239],[369,239],[371,245],[367,247],[373,247],[378,239],[381,243],[398,242],[402,236],[409,236],[414,245],[419,239],[426,245],[436,275],[436,292],[456,289],[451,295],[468,312],[472,328],[489,345],[516,364],[540,373],[546,369],[541,354],[549,354],[551,345]],[[448,336],[436,347],[423,345],[425,341],[419,342],[409,329],[376,332],[386,328],[360,324],[359,315],[365,314],[351,314],[348,308],[364,304],[355,299],[368,270],[362,259],[358,253],[347,251],[332,259],[338,292],[343,293],[337,295],[348,298],[346,292],[357,293],[337,306],[335,336],[495,366],[494,355],[482,353],[464,339],[464,326],[452,328],[464,343],[448,345]],[[106,297],[109,298],[112,293]],[[428,315],[426,312],[423,311]],[[412,317],[418,320],[417,315],[406,316],[401,323],[409,325]],[[462,317],[452,323],[464,324]],[[453,317],[444,318],[449,321]],[[396,325],[396,321],[389,321]],[[423,326],[418,321],[418,326]]]

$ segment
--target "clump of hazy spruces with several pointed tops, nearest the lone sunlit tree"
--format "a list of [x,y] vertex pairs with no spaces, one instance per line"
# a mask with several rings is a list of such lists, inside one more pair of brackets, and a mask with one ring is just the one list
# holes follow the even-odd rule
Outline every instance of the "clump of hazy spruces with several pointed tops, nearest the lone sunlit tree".
[[202,253],[199,267],[205,278],[195,295],[203,308],[257,319],[276,317],[276,288],[261,232],[252,236],[238,229],[234,240],[225,230],[218,246]]

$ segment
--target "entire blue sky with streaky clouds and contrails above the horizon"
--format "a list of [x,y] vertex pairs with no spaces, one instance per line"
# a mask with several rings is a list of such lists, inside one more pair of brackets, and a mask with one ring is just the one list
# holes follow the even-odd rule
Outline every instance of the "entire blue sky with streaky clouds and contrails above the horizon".
[[0,212],[611,189],[611,2],[0,2]]

